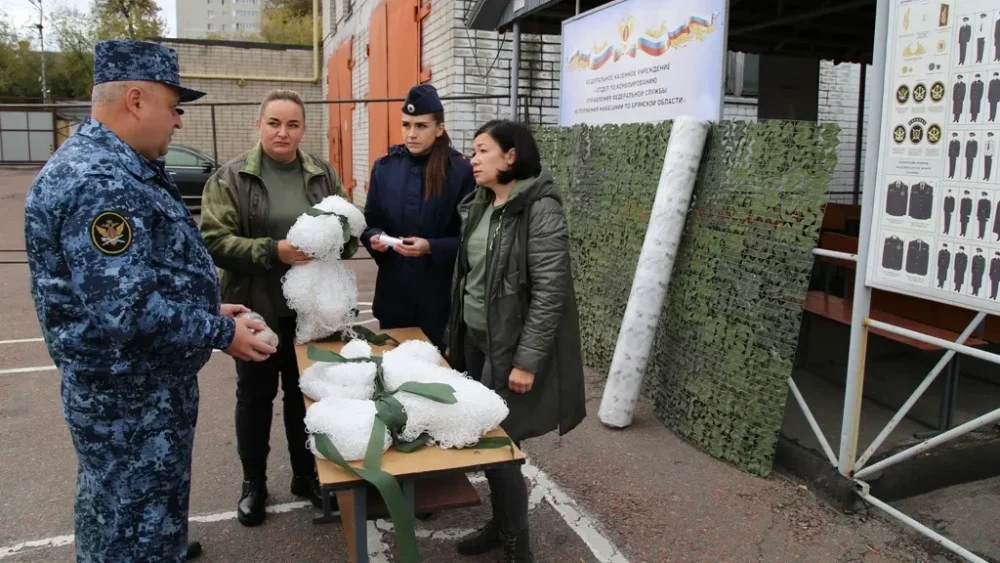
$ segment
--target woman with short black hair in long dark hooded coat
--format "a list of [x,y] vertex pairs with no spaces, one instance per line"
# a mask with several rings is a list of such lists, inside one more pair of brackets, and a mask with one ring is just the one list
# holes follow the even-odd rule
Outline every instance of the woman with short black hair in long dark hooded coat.
[[[480,187],[459,206],[449,362],[507,401],[502,427],[518,445],[556,429],[566,434],[586,416],[586,399],[562,199],[524,125],[491,121],[473,150]],[[504,561],[533,561],[520,467],[486,478],[493,518],[458,551],[503,546]]]

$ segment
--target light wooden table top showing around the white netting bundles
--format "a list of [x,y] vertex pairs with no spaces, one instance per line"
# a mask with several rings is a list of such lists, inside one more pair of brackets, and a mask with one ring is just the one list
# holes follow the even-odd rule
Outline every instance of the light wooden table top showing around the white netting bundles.
[[[381,331],[379,334],[388,334],[403,342],[405,340],[427,340],[423,331],[419,328],[399,328]],[[316,346],[325,350],[339,353],[344,347],[343,342],[317,342],[313,344],[303,344],[295,347],[295,355],[298,359],[299,373],[303,373],[306,368],[314,364],[307,356],[309,346]],[[372,345],[372,354],[381,355],[387,349],[391,349],[393,344],[387,346]],[[444,365],[446,362],[442,361]],[[312,405],[313,400],[304,397],[306,409]],[[497,428],[486,436],[503,437],[507,434],[502,428]],[[514,457],[510,455],[510,448],[495,449],[444,449],[439,447],[423,446],[412,453],[403,453],[390,446],[389,450],[382,456],[382,470],[397,477],[400,476],[421,476],[430,477],[442,473],[468,473],[497,467],[511,463],[524,463],[524,453],[517,446],[514,446]],[[352,467],[362,468],[362,462],[351,461]],[[349,473],[342,467],[321,458],[316,458],[316,469],[319,473],[321,485],[328,485],[334,489],[354,486],[360,477]],[[339,486],[338,486],[339,485]]]

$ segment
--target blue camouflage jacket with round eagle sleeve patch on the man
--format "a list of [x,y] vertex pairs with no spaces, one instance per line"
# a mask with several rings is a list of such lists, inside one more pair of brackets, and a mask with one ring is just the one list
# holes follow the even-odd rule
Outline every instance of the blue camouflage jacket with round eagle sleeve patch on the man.
[[31,295],[64,374],[197,373],[235,324],[161,162],[87,119],[25,201]]

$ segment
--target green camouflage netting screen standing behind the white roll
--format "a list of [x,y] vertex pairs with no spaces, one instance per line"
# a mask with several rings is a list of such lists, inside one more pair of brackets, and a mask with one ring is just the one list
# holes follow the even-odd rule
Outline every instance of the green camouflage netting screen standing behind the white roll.
[[[836,164],[836,125],[721,122],[710,133],[645,394],[712,455],[767,475]],[[670,123],[547,128],[569,216],[584,360],[607,372]]]

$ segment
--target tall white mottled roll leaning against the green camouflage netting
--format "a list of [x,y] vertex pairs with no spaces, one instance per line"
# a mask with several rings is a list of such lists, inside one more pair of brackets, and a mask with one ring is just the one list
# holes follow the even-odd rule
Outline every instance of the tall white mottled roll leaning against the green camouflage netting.
[[671,127],[646,238],[598,411],[607,426],[632,424],[709,128],[707,121],[689,116],[678,117]]

